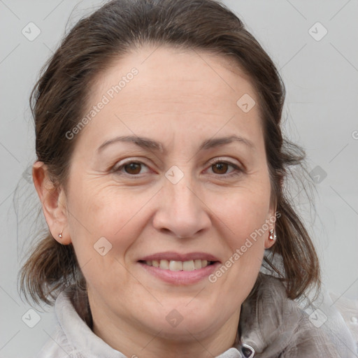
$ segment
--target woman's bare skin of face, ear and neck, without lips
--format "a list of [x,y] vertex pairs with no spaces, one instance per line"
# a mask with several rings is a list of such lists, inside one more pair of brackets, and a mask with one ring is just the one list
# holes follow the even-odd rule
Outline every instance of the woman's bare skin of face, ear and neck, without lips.
[[[127,357],[215,357],[234,344],[241,303],[273,245],[268,231],[214,283],[163,282],[138,259],[206,252],[224,263],[274,216],[259,108],[244,113],[236,105],[243,94],[257,103],[257,95],[220,55],[148,47],[101,73],[88,109],[133,67],[138,75],[78,134],[66,186],[55,190],[41,162],[34,182],[52,236],[75,248],[96,335]],[[199,150],[206,139],[233,134],[252,146]],[[133,135],[161,142],[166,152],[122,142],[98,152],[106,141]],[[217,168],[211,159],[241,170]],[[111,171],[124,161],[143,165]],[[165,176],[171,166],[184,175],[175,185]],[[112,245],[104,256],[94,250],[101,237]],[[182,317],[176,327],[166,320],[173,309]]]

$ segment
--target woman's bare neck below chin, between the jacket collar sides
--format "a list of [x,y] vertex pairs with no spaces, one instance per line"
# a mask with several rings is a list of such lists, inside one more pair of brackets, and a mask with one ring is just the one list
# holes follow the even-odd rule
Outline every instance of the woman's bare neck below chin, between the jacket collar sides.
[[178,326],[178,331],[173,334],[164,329],[151,330],[138,322],[128,322],[123,317],[113,317],[113,313],[107,315],[103,310],[98,311],[97,317],[96,312],[93,307],[94,334],[126,357],[133,358],[217,357],[234,346],[240,314],[235,313],[215,330],[210,327],[189,331],[186,327],[179,329]]

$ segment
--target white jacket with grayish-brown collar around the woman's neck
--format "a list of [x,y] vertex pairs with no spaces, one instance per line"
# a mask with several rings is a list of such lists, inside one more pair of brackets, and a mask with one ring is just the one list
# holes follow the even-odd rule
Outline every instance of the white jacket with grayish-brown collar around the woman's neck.
[[[322,306],[321,313],[309,316],[287,299],[285,287],[270,275],[259,273],[257,283],[241,308],[235,347],[217,358],[358,357],[342,317],[330,320],[332,313]],[[36,358],[136,358],[125,357],[92,332],[73,307],[71,292],[70,287],[57,297],[59,327]]]

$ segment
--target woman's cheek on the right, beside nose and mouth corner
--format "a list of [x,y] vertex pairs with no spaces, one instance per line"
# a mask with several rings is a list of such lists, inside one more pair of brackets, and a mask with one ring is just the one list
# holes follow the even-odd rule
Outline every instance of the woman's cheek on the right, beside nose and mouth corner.
[[224,245],[229,250],[226,261],[211,276],[210,282],[215,282],[227,301],[234,302],[233,306],[248,296],[262,266],[268,208],[268,192],[246,190],[217,207],[226,227]]

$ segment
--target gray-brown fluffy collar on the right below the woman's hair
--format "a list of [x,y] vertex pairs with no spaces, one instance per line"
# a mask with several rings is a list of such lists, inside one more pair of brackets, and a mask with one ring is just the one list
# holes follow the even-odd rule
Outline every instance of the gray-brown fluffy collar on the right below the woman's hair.
[[242,305],[238,336],[257,358],[341,357],[324,329],[287,299],[282,282],[264,273]]

